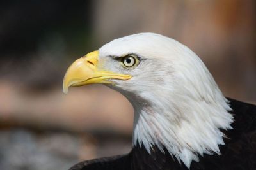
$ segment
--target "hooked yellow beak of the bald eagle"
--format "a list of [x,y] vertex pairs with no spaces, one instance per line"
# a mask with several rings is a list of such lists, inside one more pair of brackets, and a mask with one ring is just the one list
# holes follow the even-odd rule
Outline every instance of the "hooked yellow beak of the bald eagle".
[[64,76],[63,92],[67,94],[68,87],[88,85],[92,83],[112,83],[111,81],[108,81],[110,78],[128,80],[132,77],[130,75],[113,73],[111,71],[98,71],[98,60],[99,52],[94,51],[73,62],[73,64],[68,67]]

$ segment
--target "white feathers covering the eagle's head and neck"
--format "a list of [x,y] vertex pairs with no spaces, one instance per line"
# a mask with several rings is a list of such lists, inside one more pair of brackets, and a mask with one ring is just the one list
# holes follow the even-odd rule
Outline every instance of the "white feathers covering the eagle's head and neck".
[[198,154],[220,154],[220,129],[231,129],[231,108],[202,60],[181,43],[159,34],[141,33],[111,41],[99,49],[100,59],[135,53],[142,59],[114,89],[134,107],[133,145],[165,147],[189,168]]

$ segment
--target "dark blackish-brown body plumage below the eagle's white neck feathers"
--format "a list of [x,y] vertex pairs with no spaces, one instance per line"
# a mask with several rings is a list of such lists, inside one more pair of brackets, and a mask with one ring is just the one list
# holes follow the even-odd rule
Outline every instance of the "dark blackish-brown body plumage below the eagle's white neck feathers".
[[[228,99],[233,109],[235,122],[234,129],[223,131],[225,145],[220,145],[221,155],[206,155],[200,157],[199,162],[193,161],[190,169],[256,169],[256,106],[243,103],[234,99]],[[168,153],[162,153],[156,146],[152,147],[152,153],[139,145],[132,148],[127,155],[87,160],[71,167],[70,170],[168,170],[188,169],[183,163]]]

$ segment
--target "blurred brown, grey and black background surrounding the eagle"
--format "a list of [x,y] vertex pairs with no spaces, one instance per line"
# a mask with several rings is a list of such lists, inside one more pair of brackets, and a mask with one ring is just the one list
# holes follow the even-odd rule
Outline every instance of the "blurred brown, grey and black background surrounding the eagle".
[[131,104],[67,67],[112,39],[156,32],[197,53],[228,97],[256,103],[256,1],[0,1],[0,169],[68,169],[131,149]]

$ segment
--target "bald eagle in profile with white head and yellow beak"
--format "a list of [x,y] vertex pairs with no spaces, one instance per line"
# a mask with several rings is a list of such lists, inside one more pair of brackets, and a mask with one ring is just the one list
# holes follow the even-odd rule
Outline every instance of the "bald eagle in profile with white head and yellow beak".
[[225,98],[202,60],[174,39],[115,39],[76,60],[63,91],[91,83],[131,102],[132,150],[72,170],[256,169],[256,106]]

